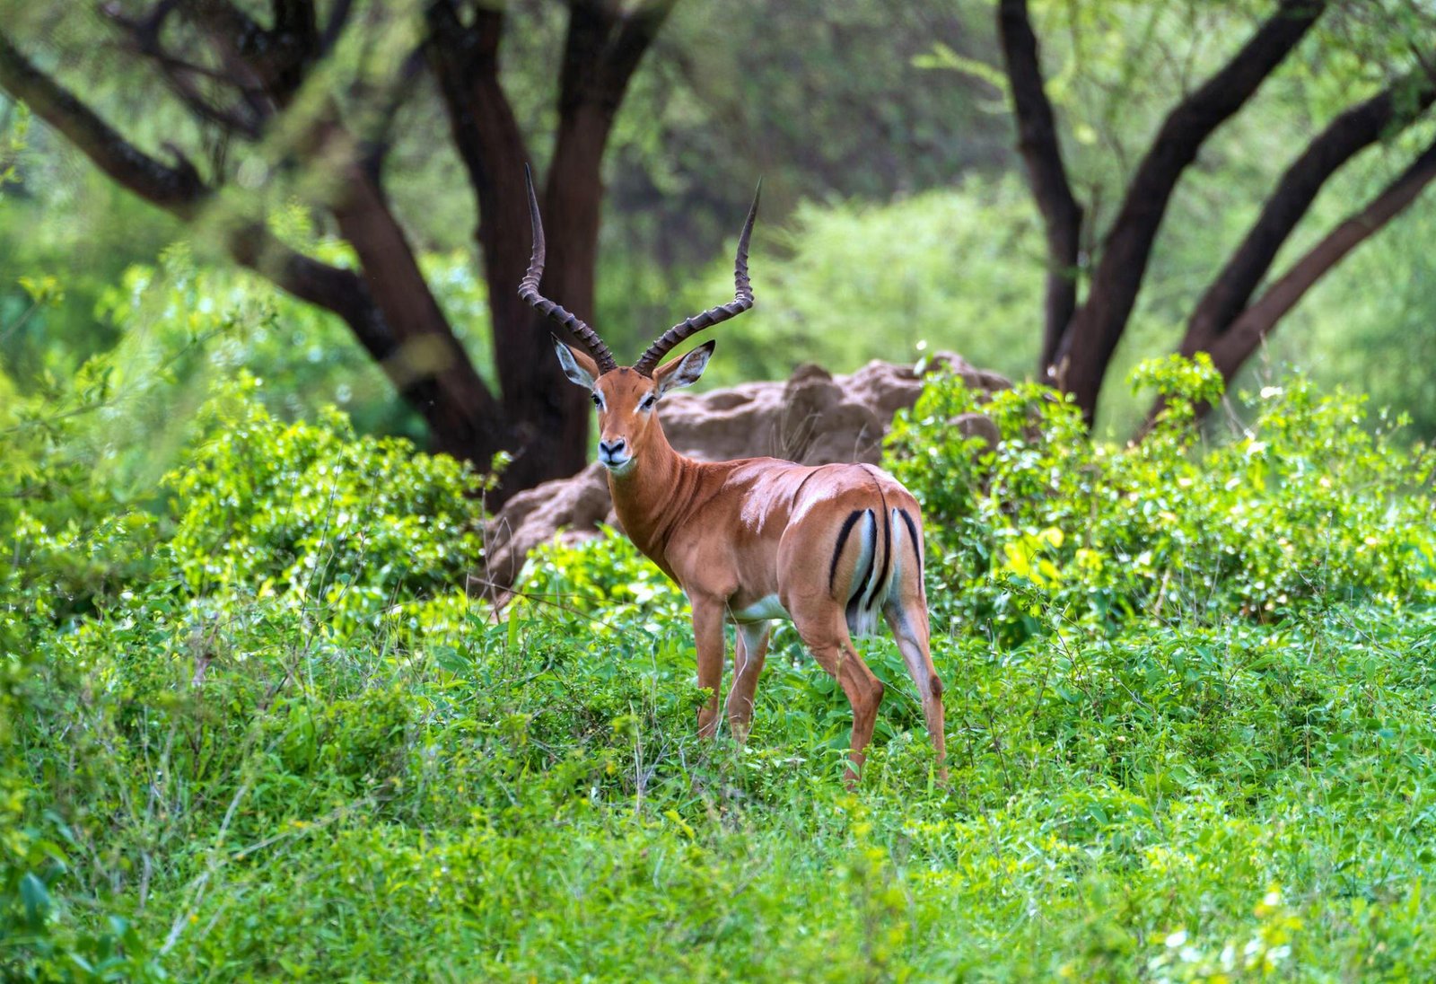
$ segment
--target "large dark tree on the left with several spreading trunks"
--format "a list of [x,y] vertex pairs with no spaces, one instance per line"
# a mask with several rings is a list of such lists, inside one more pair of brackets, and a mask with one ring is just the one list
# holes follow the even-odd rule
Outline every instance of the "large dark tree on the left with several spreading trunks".
[[[640,0],[629,7],[610,0],[569,4],[559,134],[544,195],[550,230],[544,290],[584,320],[593,319],[605,145],[632,73],[672,6],[673,0]],[[207,185],[180,151],[171,148],[174,164],[144,154],[37,70],[4,36],[0,86],[29,102],[119,184],[190,224],[197,237],[223,241],[238,263],[340,315],[424,417],[435,451],[481,470],[495,451],[513,451],[514,463],[495,501],[579,471],[587,457],[589,408],[553,356],[550,335],[563,329],[546,323],[517,294],[530,249],[523,177],[528,154],[498,78],[503,7],[428,0],[424,46],[404,62],[392,86],[402,90],[424,60],[438,79],[481,217],[475,238],[490,289],[501,385],[497,399],[455,339],[383,194],[382,131],[402,98],[391,93],[388,106],[370,121],[379,132],[366,145],[345,132],[337,98],[319,103],[296,99],[339,42],[350,22],[350,4],[330,6],[323,27],[312,0],[276,3],[271,27],[227,1],[161,0],[138,16],[128,10],[111,4],[105,14],[126,36],[128,50],[154,63],[201,125],[258,141],[286,109],[317,105],[313,119],[279,134],[292,145],[270,149],[319,165],[317,177],[330,185],[326,204],[359,254],[362,276],[284,247],[266,230],[258,207],[241,217],[211,208],[218,185]],[[175,37],[167,29],[171,16],[181,20],[181,29],[198,30],[180,45],[213,47],[217,66],[204,57],[191,62],[191,52],[165,46],[165,39]],[[197,86],[197,78],[205,85]]]

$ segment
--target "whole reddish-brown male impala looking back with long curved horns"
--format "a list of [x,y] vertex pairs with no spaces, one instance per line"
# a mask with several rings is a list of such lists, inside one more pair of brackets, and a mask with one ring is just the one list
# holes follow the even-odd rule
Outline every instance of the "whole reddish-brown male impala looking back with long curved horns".
[[592,391],[599,408],[599,461],[609,473],[613,507],[638,549],[692,603],[698,685],[712,691],[698,711],[698,733],[712,735],[718,727],[724,622],[738,628],[727,714],[734,735],[742,740],[768,649],[770,621],[787,618],[853,705],[846,777],[856,780],[883,685],[849,633],[870,635],[882,612],[918,684],[938,769],[946,777],[942,681],[928,649],[922,514],[912,494],[866,464],[811,468],[775,458],[694,461],[673,451],[658,421],[658,401],[669,389],[698,381],[714,343],[665,365],[659,359],[695,332],[752,306],[748,236],[757,197],[738,237],[734,300],[668,329],[630,368],[616,365],[592,328],[538,293],[544,238],[531,182],[528,205],[534,247],[518,293],[569,328],[587,349],[554,339],[564,373]]

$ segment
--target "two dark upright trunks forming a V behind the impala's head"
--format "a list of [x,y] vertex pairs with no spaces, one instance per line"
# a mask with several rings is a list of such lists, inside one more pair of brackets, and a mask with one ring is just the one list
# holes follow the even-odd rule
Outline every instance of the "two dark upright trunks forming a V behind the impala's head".
[[[603,154],[632,73],[672,6],[651,0],[623,14],[612,3],[570,4],[559,132],[543,192],[549,256],[541,289],[586,322],[593,320]],[[553,358],[551,335],[573,339],[517,293],[531,246],[523,184],[528,155],[498,83],[503,11],[480,9],[464,24],[454,4],[441,1],[428,17],[431,63],[478,198],[475,238],[490,286],[494,361],[521,448],[505,484],[527,488],[587,463],[589,404]]]

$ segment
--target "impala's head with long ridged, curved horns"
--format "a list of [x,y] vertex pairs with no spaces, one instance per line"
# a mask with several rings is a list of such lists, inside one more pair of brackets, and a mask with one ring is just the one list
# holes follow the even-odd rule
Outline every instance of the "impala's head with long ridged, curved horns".
[[543,277],[544,241],[538,218],[538,197],[533,180],[528,181],[528,208],[533,215],[534,251],[528,273],[518,284],[518,294],[554,319],[577,339],[572,346],[554,338],[554,349],[563,372],[576,385],[587,389],[599,408],[599,461],[613,474],[628,471],[640,457],[652,434],[661,432],[658,401],[665,392],[698,382],[714,353],[714,343],[705,342],[684,356],[659,365],[679,342],[752,307],[752,287],[748,284],[748,237],[758,214],[758,195],[752,197],[748,220],[738,237],[738,259],[734,263],[734,299],[719,307],[684,319],[663,332],[632,366],[620,366],[597,332],[538,293]]

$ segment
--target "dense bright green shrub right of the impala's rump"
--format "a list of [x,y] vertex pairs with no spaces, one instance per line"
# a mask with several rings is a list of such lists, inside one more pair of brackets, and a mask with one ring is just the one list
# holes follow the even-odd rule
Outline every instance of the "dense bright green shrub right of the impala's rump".
[[[1139,379],[1170,404],[1127,447],[1090,441],[1076,407],[1035,385],[982,404],[939,381],[900,415],[892,468],[926,510],[939,612],[1012,644],[1048,622],[1271,621],[1436,589],[1436,532],[1409,494],[1436,463],[1384,415],[1369,430],[1363,398],[1292,376],[1208,445],[1190,427],[1193,401],[1221,392],[1208,363],[1149,363]],[[969,412],[998,425],[995,447],[955,437]]]

